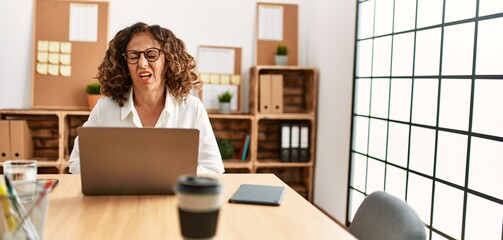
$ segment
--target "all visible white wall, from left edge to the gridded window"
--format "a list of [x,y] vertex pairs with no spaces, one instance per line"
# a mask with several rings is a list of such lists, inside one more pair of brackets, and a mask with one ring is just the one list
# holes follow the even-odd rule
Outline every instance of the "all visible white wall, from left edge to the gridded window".
[[[1,0],[0,109],[30,108],[33,1]],[[243,50],[242,74],[254,65],[257,0],[110,0],[109,39],[137,21],[168,27],[187,44]],[[354,45],[354,1],[267,0],[299,5],[299,65],[319,69],[315,203],[345,221]],[[247,98],[244,99],[245,102]]]

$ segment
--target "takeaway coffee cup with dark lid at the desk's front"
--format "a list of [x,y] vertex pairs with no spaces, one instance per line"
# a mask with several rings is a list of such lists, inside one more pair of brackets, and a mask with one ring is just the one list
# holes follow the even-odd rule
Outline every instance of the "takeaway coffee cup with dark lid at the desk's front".
[[175,186],[182,236],[209,239],[215,236],[220,211],[220,182],[216,178],[181,176]]

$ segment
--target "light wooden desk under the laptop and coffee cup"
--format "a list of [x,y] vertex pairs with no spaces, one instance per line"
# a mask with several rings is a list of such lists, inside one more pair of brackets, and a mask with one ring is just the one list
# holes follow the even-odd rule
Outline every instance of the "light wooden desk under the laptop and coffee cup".
[[[181,239],[176,198],[84,196],[80,175],[57,178],[44,239]],[[223,174],[216,239],[356,239],[273,174]],[[242,183],[285,186],[281,206],[230,204]]]

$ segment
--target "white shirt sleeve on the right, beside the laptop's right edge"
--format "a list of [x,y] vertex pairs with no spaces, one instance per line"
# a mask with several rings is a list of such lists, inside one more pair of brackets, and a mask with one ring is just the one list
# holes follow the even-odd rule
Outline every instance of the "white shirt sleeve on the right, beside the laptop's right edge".
[[199,157],[197,173],[224,173],[224,164],[220,156],[217,140],[211,127],[208,113],[202,103],[198,103],[199,116]]

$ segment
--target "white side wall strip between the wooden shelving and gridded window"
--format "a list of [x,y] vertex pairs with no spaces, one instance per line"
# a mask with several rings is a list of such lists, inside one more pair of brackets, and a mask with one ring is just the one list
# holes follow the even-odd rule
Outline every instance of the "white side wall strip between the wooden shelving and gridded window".
[[308,5],[308,64],[319,69],[314,203],[346,221],[356,1]]

